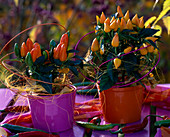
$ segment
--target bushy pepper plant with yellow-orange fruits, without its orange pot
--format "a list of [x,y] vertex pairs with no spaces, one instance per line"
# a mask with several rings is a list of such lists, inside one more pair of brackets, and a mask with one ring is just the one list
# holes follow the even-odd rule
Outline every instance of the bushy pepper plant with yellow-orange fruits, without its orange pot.
[[124,15],[118,6],[111,17],[103,12],[96,16],[96,35],[86,61],[92,66],[90,76],[100,81],[101,91],[113,86],[156,84],[157,71],[151,70],[158,61],[156,42],[160,37],[155,34],[159,30],[145,26],[144,17],[136,14],[130,19],[129,14],[128,10]]

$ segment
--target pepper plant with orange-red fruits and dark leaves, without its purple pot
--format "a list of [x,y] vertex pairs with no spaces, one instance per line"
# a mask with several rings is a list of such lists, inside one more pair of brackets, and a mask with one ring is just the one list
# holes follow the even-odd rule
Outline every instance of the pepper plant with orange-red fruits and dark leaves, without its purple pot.
[[35,80],[34,85],[40,85],[49,94],[55,94],[61,91],[60,85],[71,84],[68,78],[70,72],[78,76],[77,68],[83,67],[83,58],[71,54],[78,51],[68,50],[68,44],[69,32],[66,32],[59,43],[50,41],[49,50],[28,38],[21,46],[15,43],[14,51],[17,60],[26,65],[26,76]]

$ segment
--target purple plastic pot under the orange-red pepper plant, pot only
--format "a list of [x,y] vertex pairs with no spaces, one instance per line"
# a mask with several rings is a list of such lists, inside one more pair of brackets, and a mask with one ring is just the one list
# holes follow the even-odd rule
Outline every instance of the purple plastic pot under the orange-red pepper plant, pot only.
[[73,127],[76,87],[71,87],[71,93],[28,96],[34,128],[60,132]]

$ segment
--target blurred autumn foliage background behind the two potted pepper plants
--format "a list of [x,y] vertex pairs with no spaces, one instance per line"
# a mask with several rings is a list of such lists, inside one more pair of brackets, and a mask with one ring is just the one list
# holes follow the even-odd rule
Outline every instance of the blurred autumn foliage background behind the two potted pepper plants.
[[[155,8],[154,3],[157,1]],[[0,0],[0,49],[22,30],[41,23],[59,23],[70,31],[70,48],[79,39],[94,30],[96,15],[103,11],[107,17],[116,12],[120,5],[123,13],[130,11],[132,18],[136,13],[144,16],[146,21],[152,16],[158,17],[163,8],[164,0]],[[159,67],[165,76],[165,83],[170,83],[170,39],[162,20],[162,41],[159,43],[161,61]],[[39,42],[43,47],[49,46],[49,41],[59,41],[64,29],[59,26],[42,26],[34,28],[18,36],[0,55],[13,51],[14,42],[21,44],[27,37]],[[80,55],[85,55],[94,34],[83,38],[78,45]]]

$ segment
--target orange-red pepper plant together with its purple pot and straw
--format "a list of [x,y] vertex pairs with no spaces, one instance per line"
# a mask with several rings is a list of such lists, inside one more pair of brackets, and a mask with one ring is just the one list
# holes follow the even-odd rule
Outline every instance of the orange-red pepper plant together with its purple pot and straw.
[[78,76],[77,68],[83,67],[82,58],[73,55],[78,51],[68,50],[69,32],[59,41],[51,40],[49,50],[30,38],[21,46],[16,43],[17,58],[13,60],[24,65],[24,71],[15,71],[6,79],[8,87],[28,95],[34,128],[47,132],[72,128],[76,88],[69,75],[73,72]]

